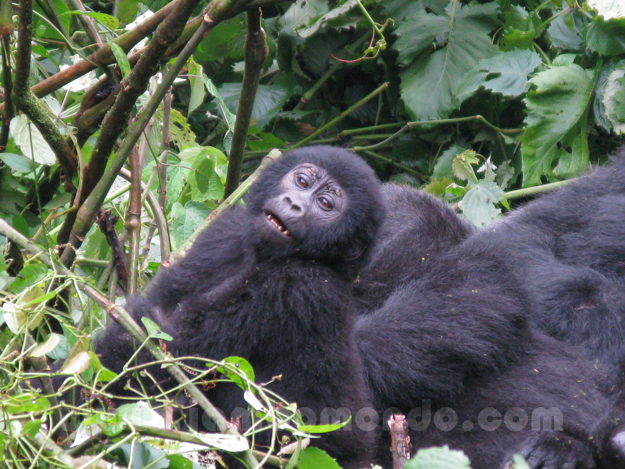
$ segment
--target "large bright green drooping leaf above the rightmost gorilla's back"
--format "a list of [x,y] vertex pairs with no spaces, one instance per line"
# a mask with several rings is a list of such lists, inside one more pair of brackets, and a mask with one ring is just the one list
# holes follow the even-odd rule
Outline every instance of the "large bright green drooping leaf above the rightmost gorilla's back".
[[[587,116],[593,84],[576,64],[536,74],[527,93],[526,129],[520,140],[523,186],[543,174],[570,178],[588,167]],[[552,169],[557,163],[555,169]]]

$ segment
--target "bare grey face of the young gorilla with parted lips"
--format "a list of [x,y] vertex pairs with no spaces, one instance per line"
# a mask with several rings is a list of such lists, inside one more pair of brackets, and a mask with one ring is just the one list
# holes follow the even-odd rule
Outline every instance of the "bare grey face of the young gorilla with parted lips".
[[262,238],[301,243],[340,223],[347,203],[346,193],[326,170],[298,164],[282,176],[277,196],[262,206]]

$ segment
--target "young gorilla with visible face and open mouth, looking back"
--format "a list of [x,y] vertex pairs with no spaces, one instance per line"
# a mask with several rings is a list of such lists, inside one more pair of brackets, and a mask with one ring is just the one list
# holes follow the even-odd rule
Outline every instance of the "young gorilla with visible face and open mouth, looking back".
[[[345,293],[382,220],[379,181],[349,151],[302,148],[265,169],[245,201],[217,217],[181,261],[159,271],[128,310],[173,336],[174,356],[242,356],[259,383],[282,375],[271,391],[307,408],[317,423],[327,423],[324,413],[332,410],[354,418],[371,404],[352,334],[356,306]],[[103,365],[120,371],[134,346],[113,324],[96,350]],[[166,371],[150,372],[170,386]],[[219,382],[206,395],[227,418],[247,408],[234,384]],[[364,467],[376,431],[352,422],[351,430],[312,444],[345,468]]]

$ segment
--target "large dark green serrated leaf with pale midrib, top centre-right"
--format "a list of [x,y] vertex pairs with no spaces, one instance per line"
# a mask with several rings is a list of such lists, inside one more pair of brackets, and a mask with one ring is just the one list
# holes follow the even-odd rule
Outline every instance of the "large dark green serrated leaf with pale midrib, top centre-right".
[[[498,24],[498,8],[494,2],[451,2],[444,14],[418,13],[396,29],[397,61],[407,65],[399,75],[402,99],[412,118],[445,118],[457,107],[452,100],[456,83],[497,52],[488,33]],[[432,44],[439,49],[431,52]]]

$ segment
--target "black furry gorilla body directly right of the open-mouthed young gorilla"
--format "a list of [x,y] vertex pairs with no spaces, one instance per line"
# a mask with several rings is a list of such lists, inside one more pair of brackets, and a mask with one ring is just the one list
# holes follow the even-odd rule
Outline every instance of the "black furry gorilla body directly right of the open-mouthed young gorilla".
[[[374,406],[407,413],[426,399],[432,414],[452,408],[456,428],[430,425],[414,441],[462,449],[476,468],[499,468],[515,448],[532,468],[625,466],[604,376],[576,348],[532,330],[527,292],[501,251],[464,241],[474,229],[426,193],[387,185],[384,196],[387,218],[355,289],[369,311],[356,338]],[[527,416],[555,407],[563,427],[482,430],[487,407]]]

